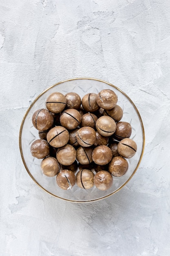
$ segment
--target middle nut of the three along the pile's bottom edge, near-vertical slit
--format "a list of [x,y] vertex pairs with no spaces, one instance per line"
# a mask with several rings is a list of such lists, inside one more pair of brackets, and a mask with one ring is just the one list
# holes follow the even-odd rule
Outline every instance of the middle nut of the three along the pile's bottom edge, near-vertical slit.
[[82,169],[76,175],[76,183],[81,189],[91,189],[94,186],[94,173],[88,169]]

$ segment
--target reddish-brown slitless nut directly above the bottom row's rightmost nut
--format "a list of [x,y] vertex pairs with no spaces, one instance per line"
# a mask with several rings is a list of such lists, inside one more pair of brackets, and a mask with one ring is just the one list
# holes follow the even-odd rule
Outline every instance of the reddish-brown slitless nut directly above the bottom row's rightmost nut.
[[112,156],[112,150],[108,146],[100,145],[93,149],[92,159],[95,164],[108,164],[111,161]]

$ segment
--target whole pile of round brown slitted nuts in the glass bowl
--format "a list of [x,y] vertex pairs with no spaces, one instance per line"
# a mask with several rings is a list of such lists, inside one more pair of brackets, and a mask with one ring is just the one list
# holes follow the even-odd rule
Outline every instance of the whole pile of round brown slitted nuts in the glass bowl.
[[77,184],[82,189],[95,185],[107,190],[113,176],[126,173],[126,158],[137,151],[130,139],[131,125],[120,121],[122,117],[113,90],[88,93],[82,99],[75,92],[53,92],[46,99],[46,109],[33,114],[40,139],[31,144],[31,155],[42,159],[42,173],[56,175],[61,189]]

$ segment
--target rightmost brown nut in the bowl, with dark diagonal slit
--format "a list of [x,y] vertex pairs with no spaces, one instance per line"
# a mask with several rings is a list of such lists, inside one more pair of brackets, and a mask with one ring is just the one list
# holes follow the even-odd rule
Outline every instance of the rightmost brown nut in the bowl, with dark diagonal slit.
[[117,146],[117,150],[122,157],[131,158],[137,151],[137,144],[132,139],[122,139]]

